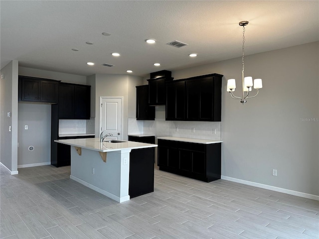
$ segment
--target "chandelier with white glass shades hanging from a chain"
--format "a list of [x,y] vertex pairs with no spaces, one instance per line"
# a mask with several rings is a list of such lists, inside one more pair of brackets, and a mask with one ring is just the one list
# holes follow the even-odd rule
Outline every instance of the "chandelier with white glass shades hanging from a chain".
[[[251,76],[244,77],[244,48],[245,48],[245,26],[248,25],[248,21],[241,21],[239,22],[239,25],[243,27],[243,51],[242,51],[242,87],[243,87],[243,95],[242,97],[234,96],[234,91],[236,88],[236,81],[235,79],[229,79],[227,81],[227,91],[230,93],[231,98],[233,99],[240,99],[240,103],[243,105],[246,103],[246,100],[249,98],[254,98],[258,95],[259,90],[263,88],[262,80],[261,79],[255,79],[253,84],[253,78]],[[254,89],[257,90],[257,94],[254,96],[249,96],[249,92],[252,91],[252,87],[254,86]],[[246,95],[246,96],[245,96]]]

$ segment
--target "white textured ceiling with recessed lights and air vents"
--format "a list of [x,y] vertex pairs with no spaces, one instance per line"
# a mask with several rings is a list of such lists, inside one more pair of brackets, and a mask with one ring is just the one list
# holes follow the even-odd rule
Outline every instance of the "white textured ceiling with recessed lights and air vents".
[[[319,40],[318,0],[1,0],[0,9],[1,69],[11,60],[83,76],[184,69],[240,57],[242,20],[249,21],[245,55]],[[188,45],[166,45],[173,40]],[[193,52],[196,58],[188,56]]]

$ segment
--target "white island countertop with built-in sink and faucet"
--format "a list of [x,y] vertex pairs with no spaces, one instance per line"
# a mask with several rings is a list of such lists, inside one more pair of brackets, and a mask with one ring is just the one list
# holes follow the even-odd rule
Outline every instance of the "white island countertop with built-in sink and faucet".
[[[124,141],[124,140],[121,140]],[[57,143],[68,144],[71,146],[91,149],[100,152],[120,151],[124,149],[151,148],[157,147],[157,144],[140,143],[133,141],[124,141],[120,143],[100,142],[100,138],[76,138],[54,140]]]

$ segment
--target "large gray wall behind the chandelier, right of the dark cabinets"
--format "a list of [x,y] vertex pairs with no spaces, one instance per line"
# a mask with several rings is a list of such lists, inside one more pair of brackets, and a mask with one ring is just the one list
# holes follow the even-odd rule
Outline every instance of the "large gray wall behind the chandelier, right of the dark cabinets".
[[318,66],[319,42],[246,56],[245,76],[262,78],[263,88],[244,106],[226,92],[227,80],[235,78],[240,96],[241,58],[172,76],[224,75],[223,176],[319,195]]

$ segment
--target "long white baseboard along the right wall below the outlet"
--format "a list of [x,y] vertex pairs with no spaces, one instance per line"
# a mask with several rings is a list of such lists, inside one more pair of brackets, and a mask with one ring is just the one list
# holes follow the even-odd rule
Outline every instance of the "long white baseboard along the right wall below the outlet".
[[313,195],[313,194],[302,193],[302,192],[298,192],[298,191],[294,191],[294,190],[290,190],[290,189],[285,189],[285,188],[278,188],[278,187],[274,187],[274,186],[270,186],[270,185],[266,185],[266,184],[262,184],[262,183],[255,183],[255,182],[246,181],[246,180],[242,180],[242,179],[238,179],[238,178],[227,177],[227,176],[221,176],[221,179],[319,201],[319,196]]

